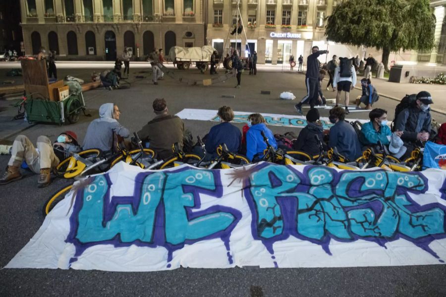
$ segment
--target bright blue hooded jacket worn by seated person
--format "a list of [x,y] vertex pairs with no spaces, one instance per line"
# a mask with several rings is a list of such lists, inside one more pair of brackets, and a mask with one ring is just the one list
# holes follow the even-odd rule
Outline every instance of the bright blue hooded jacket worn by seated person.
[[252,161],[252,158],[259,154],[260,157],[263,157],[263,151],[266,150],[267,145],[263,140],[262,134],[260,131],[264,131],[266,137],[268,137],[268,142],[272,147],[277,149],[277,142],[274,138],[273,132],[267,128],[264,123],[252,125],[248,132],[246,132],[246,157]]

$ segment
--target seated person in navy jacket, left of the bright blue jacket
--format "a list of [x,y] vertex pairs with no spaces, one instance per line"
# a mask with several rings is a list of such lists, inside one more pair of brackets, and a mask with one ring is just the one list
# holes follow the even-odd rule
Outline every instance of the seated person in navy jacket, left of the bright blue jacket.
[[240,150],[240,129],[230,123],[234,119],[234,112],[229,106],[222,106],[219,108],[218,116],[220,117],[220,123],[213,126],[206,136],[207,159],[218,157],[217,147],[222,143],[226,144],[230,152],[236,153]]

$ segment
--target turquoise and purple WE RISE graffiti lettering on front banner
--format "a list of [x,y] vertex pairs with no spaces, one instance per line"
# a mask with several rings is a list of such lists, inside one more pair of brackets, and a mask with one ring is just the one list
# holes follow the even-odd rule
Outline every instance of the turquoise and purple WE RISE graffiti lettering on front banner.
[[[237,183],[230,192],[243,190],[250,213],[219,204],[230,198],[223,196],[228,186],[222,184],[224,171],[185,167],[140,173],[130,196],[111,195],[109,176],[97,176],[77,193],[67,241],[76,246],[75,256],[97,244],[163,246],[169,261],[184,244],[221,238],[231,263],[230,235],[247,215],[253,238],[272,254],[275,242],[292,236],[318,243],[329,254],[332,239],[384,245],[405,238],[437,256],[428,245],[445,237],[445,207],[419,205],[410,197],[428,189],[421,173],[336,172],[315,166],[300,172],[267,163],[231,172],[243,188]],[[201,195],[216,203],[201,209]]]

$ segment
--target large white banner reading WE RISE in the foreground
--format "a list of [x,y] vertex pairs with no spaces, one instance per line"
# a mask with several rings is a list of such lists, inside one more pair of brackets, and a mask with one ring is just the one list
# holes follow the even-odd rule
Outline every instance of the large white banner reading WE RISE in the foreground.
[[444,263],[445,172],[119,163],[75,183],[6,268],[154,271]]

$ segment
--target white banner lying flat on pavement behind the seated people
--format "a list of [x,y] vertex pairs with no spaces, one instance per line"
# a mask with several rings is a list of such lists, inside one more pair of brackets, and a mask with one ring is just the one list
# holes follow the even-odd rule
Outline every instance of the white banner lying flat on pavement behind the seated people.
[[[195,119],[195,120],[213,120],[220,121],[216,110],[209,109],[190,109],[186,108],[176,114],[181,119]],[[252,113],[247,112],[234,112],[234,119],[232,122],[238,123],[248,123],[248,116]],[[285,127],[299,127],[303,128],[307,125],[307,119],[305,116],[289,116],[289,115],[277,115],[277,114],[264,114],[262,116],[265,118],[268,125],[272,126],[285,126]],[[358,120],[361,123],[368,122],[369,120],[364,119],[345,119],[347,121]],[[321,117],[322,125],[324,129],[329,129],[333,124],[330,122],[329,118]]]

